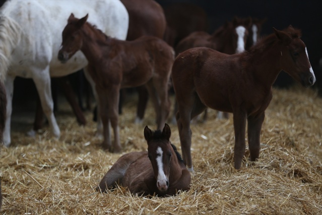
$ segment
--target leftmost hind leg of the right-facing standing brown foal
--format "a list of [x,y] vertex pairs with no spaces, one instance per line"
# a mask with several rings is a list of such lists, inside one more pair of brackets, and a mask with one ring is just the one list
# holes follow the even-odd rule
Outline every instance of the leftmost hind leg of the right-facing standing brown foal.
[[191,158],[191,129],[190,121],[192,118],[201,114],[206,106],[201,102],[196,92],[187,93],[185,96],[177,97],[178,113],[176,120],[178,125],[182,157],[190,172],[194,172]]

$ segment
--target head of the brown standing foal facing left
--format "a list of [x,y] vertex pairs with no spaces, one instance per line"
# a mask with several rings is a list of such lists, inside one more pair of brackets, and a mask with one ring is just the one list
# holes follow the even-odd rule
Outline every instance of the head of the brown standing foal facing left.
[[87,18],[88,14],[81,19],[77,19],[73,13],[68,18],[68,23],[62,31],[62,42],[58,51],[58,60],[61,63],[66,63],[81,49],[83,44],[81,28],[86,23]]

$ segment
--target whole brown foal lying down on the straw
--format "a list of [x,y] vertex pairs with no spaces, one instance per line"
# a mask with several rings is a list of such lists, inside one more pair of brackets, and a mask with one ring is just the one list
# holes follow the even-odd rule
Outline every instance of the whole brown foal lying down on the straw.
[[191,176],[181,155],[170,142],[171,130],[165,124],[161,130],[144,128],[148,151],[122,155],[104,175],[97,191],[107,192],[117,185],[127,187],[136,195],[173,196],[179,190],[189,190]]

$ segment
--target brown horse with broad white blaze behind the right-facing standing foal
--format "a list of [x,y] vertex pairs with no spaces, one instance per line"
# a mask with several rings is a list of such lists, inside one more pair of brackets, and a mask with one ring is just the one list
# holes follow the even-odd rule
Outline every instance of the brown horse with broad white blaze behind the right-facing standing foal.
[[[218,28],[213,34],[205,31],[196,31],[183,38],[175,47],[176,55],[189,48],[194,47],[209,47],[220,52],[232,55],[234,53],[241,53],[245,50],[245,44],[248,38],[248,29],[251,25],[251,19],[241,19],[234,17],[231,22],[226,22],[223,26]],[[175,113],[177,106],[175,106]],[[174,114],[175,115],[175,114]],[[219,112],[219,119],[228,118],[227,113]],[[174,122],[173,117],[173,122]],[[207,118],[207,111],[205,111],[204,121]]]

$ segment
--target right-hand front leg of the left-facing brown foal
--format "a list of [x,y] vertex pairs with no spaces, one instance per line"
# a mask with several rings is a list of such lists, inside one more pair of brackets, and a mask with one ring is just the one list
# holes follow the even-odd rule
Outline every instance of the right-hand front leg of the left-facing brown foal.
[[119,85],[111,87],[106,95],[108,104],[107,114],[114,132],[113,152],[117,153],[121,151],[118,127]]

